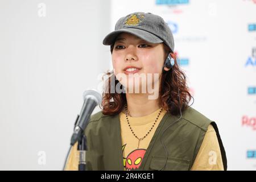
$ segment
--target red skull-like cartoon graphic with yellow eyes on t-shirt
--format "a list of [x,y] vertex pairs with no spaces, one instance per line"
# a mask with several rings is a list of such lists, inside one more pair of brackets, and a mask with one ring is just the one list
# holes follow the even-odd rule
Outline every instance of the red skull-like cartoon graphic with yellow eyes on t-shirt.
[[[125,150],[126,144],[124,144],[122,146],[123,151]],[[139,166],[141,166],[141,162],[142,162],[145,152],[146,152],[145,149],[137,148],[137,149],[131,151],[130,154],[128,154],[126,156],[126,158],[123,158],[123,167],[125,168],[125,170],[131,171],[131,170],[135,170],[135,169],[139,168]]]

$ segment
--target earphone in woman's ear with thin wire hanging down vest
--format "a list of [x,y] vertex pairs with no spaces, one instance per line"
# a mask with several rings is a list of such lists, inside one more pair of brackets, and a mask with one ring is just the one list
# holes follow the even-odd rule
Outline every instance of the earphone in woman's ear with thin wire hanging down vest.
[[[175,64],[175,60],[174,60],[174,58],[171,56],[171,53],[169,53],[168,56],[167,56],[167,58],[166,58],[166,61],[165,61],[165,63],[164,63],[163,68],[164,68],[164,67],[170,68],[170,71],[171,71],[171,69],[174,67],[174,64]],[[163,71],[164,71],[164,69],[163,69]],[[173,71],[173,70],[172,70],[172,71]],[[174,73],[173,73],[173,74],[174,74]],[[175,75],[175,74],[174,74],[174,75]],[[179,87],[178,87],[178,97],[179,97],[179,107],[180,107],[180,88],[179,88]],[[191,97],[192,97],[192,96],[191,96]],[[193,98],[193,97],[192,97],[192,98]],[[193,98],[193,102],[194,102],[194,98]],[[193,103],[192,103],[192,104],[193,104]],[[192,105],[192,104],[191,104],[191,105]],[[176,121],[174,121],[174,122],[172,122],[170,125],[168,125],[168,126],[166,127],[166,129],[164,129],[162,135],[160,136],[160,142],[162,143],[162,145],[163,145],[163,147],[164,147],[164,150],[166,151],[166,163],[164,164],[163,168],[161,168],[159,171],[162,171],[164,168],[166,168],[167,159],[168,159],[168,151],[167,151],[166,146],[164,145],[164,143],[163,143],[163,141],[162,141],[162,136],[163,136],[163,134],[166,132],[166,130],[167,130],[170,126],[174,125],[174,123],[176,123],[177,121],[179,121],[179,120],[181,119],[181,116],[182,116],[182,114],[181,114],[181,107],[180,107],[180,117],[179,117]]]

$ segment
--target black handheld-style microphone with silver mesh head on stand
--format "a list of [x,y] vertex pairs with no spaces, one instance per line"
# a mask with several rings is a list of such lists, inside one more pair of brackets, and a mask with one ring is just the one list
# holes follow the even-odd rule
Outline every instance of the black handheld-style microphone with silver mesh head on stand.
[[82,105],[79,118],[77,119],[77,123],[71,137],[71,146],[73,146],[77,141],[81,141],[84,130],[88,125],[90,115],[94,108],[102,101],[101,94],[94,89],[85,90],[83,97],[84,104]]

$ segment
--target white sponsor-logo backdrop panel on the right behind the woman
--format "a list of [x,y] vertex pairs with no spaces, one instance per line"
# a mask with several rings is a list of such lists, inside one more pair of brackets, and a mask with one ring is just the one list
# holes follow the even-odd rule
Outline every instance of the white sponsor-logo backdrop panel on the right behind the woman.
[[[160,15],[170,25],[195,98],[192,107],[216,121],[228,169],[255,170],[256,94],[248,88],[256,86],[256,31],[249,31],[256,24],[256,1],[112,0],[112,30],[136,11]],[[245,66],[249,57],[253,64]],[[243,116],[249,118],[244,124]]]

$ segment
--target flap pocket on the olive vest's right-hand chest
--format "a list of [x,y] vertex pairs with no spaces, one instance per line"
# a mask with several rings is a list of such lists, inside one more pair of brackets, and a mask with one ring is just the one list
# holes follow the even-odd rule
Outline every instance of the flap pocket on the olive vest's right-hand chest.
[[[160,170],[164,167],[166,163],[165,156],[152,156],[150,162],[150,169]],[[189,170],[190,160],[174,158],[168,156],[166,167],[163,169],[164,171],[188,171]]]

